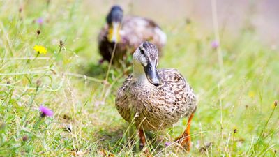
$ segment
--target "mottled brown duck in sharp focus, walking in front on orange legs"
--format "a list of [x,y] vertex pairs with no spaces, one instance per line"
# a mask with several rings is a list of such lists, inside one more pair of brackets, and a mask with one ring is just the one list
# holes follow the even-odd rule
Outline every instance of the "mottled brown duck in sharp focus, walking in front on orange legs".
[[190,124],[197,98],[186,79],[174,68],[157,69],[158,48],[145,41],[133,53],[133,72],[118,89],[116,109],[123,119],[139,130],[140,146],[146,145],[144,131],[172,127],[186,117],[185,131],[175,142],[190,151]]

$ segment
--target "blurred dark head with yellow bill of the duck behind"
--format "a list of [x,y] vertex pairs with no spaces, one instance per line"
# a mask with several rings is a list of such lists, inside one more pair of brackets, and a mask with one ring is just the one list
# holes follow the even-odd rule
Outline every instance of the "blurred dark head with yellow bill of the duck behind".
[[110,13],[107,15],[107,24],[109,32],[107,38],[112,43],[117,43],[120,40],[119,30],[123,19],[123,10],[120,6],[112,6]]

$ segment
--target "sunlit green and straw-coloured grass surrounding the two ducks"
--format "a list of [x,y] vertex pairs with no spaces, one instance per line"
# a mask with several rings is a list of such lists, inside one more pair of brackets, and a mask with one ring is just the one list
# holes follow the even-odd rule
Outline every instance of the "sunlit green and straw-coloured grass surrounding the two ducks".
[[[134,126],[114,107],[125,76],[112,67],[104,82],[108,63],[98,65],[105,14],[83,8],[82,1],[0,1],[0,156],[144,154]],[[146,133],[153,156],[279,156],[278,50],[244,25],[238,34],[220,34],[222,71],[213,32],[198,29],[195,20],[161,25],[168,42],[159,66],[179,69],[198,109],[190,153],[165,147],[186,127],[181,119]],[[34,45],[47,54],[34,52]],[[40,105],[54,117],[41,118]]]

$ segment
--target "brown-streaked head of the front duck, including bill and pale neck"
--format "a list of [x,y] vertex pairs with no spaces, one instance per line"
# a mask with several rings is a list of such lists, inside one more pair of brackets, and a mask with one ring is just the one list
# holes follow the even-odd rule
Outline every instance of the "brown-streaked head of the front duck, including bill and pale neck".
[[145,41],[133,54],[133,77],[140,82],[148,80],[151,84],[158,86],[161,81],[157,66],[158,49],[152,43]]

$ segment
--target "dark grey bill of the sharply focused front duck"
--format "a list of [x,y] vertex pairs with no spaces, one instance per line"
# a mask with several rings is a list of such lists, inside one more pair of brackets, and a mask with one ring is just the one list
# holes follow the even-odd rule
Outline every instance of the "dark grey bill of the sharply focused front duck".
[[144,66],[144,72],[147,77],[147,80],[155,86],[158,86],[161,84],[160,77],[157,73],[157,69],[155,65],[152,65],[151,63],[148,63],[147,66]]

